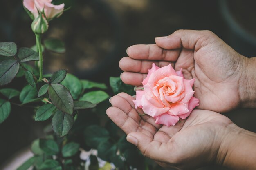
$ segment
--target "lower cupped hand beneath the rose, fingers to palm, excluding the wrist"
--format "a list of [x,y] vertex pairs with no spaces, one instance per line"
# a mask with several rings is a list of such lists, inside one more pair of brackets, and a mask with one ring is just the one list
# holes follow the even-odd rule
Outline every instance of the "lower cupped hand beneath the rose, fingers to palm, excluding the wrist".
[[167,127],[155,124],[153,117],[140,116],[143,111],[135,110],[132,100],[132,96],[119,93],[110,99],[113,107],[106,113],[145,156],[163,167],[179,169],[223,162],[220,146],[230,132],[227,127],[233,125],[227,117],[193,110],[186,121],[180,119],[175,126]]

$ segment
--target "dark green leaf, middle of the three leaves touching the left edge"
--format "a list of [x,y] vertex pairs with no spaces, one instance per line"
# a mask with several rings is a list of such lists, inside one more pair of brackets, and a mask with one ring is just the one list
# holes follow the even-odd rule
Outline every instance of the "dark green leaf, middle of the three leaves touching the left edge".
[[13,59],[0,62],[0,86],[8,84],[19,71],[20,64]]

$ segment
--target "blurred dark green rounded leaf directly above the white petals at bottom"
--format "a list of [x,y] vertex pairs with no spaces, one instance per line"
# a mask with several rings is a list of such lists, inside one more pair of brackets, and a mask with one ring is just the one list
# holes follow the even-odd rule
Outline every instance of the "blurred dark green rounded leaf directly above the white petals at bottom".
[[88,126],[84,131],[85,142],[92,148],[97,148],[101,142],[110,138],[108,131],[97,125]]

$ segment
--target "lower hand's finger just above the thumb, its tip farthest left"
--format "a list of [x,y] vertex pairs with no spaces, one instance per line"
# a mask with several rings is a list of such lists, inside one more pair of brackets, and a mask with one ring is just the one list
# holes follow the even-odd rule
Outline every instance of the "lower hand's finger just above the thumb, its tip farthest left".
[[135,120],[126,115],[126,113],[119,108],[110,107],[106,110],[106,114],[126,134],[130,132],[141,132],[148,137],[153,137],[151,132],[141,128]]

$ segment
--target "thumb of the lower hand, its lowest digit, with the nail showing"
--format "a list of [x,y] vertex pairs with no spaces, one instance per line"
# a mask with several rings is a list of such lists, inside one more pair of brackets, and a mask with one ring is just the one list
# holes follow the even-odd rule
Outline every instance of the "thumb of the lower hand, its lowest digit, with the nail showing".
[[137,146],[144,156],[154,159],[155,161],[170,161],[169,155],[171,155],[171,150],[169,149],[172,149],[172,142],[162,143],[155,141],[153,137],[148,137],[141,132],[129,133],[126,139],[128,142]]

